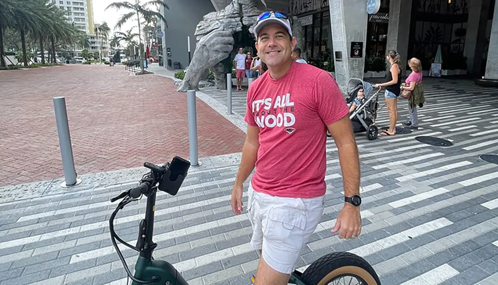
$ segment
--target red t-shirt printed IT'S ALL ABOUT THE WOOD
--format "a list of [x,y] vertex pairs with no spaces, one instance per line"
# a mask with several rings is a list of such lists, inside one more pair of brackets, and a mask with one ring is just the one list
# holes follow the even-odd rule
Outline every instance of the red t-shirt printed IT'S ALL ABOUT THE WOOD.
[[274,80],[265,72],[249,87],[246,122],[259,127],[254,190],[273,196],[325,194],[327,125],[349,114],[332,76],[292,63]]

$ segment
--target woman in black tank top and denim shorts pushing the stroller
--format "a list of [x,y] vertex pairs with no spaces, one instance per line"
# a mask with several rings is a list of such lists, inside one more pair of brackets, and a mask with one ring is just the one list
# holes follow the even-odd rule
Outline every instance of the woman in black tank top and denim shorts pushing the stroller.
[[398,120],[397,102],[401,92],[401,57],[395,50],[387,52],[387,60],[391,64],[389,72],[385,75],[385,83],[375,84],[374,88],[385,87],[385,101],[389,110],[389,129],[380,132],[383,136],[393,136],[396,134],[396,122]]

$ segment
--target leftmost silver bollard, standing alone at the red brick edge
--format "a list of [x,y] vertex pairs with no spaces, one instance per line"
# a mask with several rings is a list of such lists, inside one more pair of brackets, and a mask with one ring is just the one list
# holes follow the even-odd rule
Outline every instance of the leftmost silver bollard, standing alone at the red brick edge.
[[57,133],[61,148],[62,167],[64,170],[64,182],[61,187],[76,186],[81,179],[76,176],[74,168],[73,148],[71,146],[71,135],[69,134],[69,123],[67,121],[66,99],[64,97],[53,97],[55,121],[57,122]]

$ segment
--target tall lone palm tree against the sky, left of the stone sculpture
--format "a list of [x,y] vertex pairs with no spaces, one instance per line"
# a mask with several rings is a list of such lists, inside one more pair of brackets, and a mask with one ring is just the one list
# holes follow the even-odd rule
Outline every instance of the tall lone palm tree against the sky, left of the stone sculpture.
[[158,11],[153,11],[151,9],[149,9],[148,7],[149,6],[154,6],[154,7],[158,7],[158,6],[163,6],[164,8],[168,9],[169,10],[169,6],[163,1],[163,0],[152,0],[152,1],[148,1],[148,2],[145,2],[143,4],[140,4],[139,3],[139,0],[135,0],[135,3],[132,4],[128,1],[123,1],[123,2],[114,2],[114,3],[111,3],[109,4],[109,6],[107,6],[106,10],[109,9],[109,8],[116,8],[116,9],[121,9],[121,8],[124,8],[124,9],[127,9],[127,10],[131,10],[130,12],[124,14],[121,19],[116,23],[116,26],[115,26],[115,29],[116,28],[121,28],[123,26],[123,24],[125,22],[127,22],[129,19],[131,19],[131,17],[135,16],[136,15],[136,19],[137,19],[137,22],[138,22],[138,42],[139,42],[139,55],[140,55],[140,68],[142,70],[142,74],[143,74],[143,53],[142,53],[142,40],[141,40],[141,37],[140,37],[140,34],[141,34],[141,29],[140,29],[140,17],[144,18],[144,19],[150,19],[152,17],[157,17],[157,18],[160,18],[165,25],[167,25],[167,21],[166,21],[166,18],[164,18],[164,16],[159,13]]

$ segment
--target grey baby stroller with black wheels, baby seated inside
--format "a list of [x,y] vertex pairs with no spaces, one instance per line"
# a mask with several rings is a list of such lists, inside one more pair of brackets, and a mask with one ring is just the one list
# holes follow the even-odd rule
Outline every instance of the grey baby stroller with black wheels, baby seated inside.
[[353,123],[355,133],[366,131],[367,138],[374,140],[378,135],[375,119],[377,118],[378,94],[380,89],[374,91],[372,84],[357,78],[350,79],[348,81],[348,98],[346,98],[346,102],[350,107],[357,98],[358,91],[361,88],[364,91],[364,98],[356,100],[356,102],[359,102],[359,105],[350,113],[349,118]]

